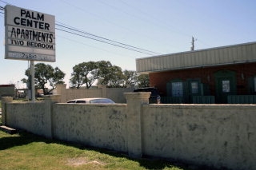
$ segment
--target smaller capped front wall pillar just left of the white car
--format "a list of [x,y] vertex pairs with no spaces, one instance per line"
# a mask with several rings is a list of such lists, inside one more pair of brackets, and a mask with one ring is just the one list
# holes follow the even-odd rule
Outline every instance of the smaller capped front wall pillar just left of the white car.
[[44,102],[45,102],[45,114],[46,114],[46,122],[49,122],[48,125],[46,125],[46,128],[44,129],[46,137],[52,139],[53,136],[53,107],[52,105],[54,103],[58,103],[60,101],[60,95],[46,95],[44,96]]

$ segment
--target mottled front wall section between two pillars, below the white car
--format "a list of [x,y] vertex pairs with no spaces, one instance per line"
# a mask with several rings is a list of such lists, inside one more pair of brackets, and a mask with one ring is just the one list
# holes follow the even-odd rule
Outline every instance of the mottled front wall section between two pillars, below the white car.
[[53,136],[127,152],[126,105],[55,104]]

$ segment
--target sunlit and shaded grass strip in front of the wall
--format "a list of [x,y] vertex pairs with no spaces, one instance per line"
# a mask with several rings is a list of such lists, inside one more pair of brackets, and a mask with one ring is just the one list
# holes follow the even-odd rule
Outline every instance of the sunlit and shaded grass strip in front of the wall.
[[122,153],[48,140],[27,132],[10,135],[0,131],[0,157],[0,169],[189,170],[190,167],[166,160],[130,159]]

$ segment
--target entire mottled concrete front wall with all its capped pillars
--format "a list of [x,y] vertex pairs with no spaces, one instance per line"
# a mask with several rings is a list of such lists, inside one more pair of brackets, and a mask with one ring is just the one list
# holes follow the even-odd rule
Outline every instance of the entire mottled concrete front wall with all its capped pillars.
[[2,99],[5,125],[35,134],[215,168],[256,169],[256,105],[156,105],[150,93],[125,93],[127,104],[40,103]]

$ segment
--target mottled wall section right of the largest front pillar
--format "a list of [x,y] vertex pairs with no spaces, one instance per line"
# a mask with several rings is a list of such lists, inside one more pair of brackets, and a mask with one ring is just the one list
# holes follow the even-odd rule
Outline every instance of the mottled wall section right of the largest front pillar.
[[144,105],[143,153],[256,169],[256,105]]

